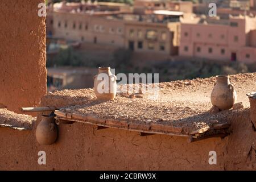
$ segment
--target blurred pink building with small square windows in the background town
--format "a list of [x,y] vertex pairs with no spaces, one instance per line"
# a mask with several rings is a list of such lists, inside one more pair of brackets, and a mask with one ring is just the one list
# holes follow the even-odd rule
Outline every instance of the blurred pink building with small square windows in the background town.
[[256,61],[256,17],[201,19],[181,23],[180,56],[252,63]]

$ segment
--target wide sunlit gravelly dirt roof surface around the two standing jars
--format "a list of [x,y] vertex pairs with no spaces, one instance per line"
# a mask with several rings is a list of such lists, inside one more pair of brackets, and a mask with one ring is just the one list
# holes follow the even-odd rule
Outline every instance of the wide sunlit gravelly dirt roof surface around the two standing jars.
[[[246,93],[256,90],[256,73],[230,76],[236,89],[238,100],[249,106]],[[117,94],[114,101],[97,101],[92,89],[63,90],[51,94],[52,99],[69,100],[72,105],[60,109],[63,113],[95,115],[100,119],[115,119],[127,123],[155,126],[163,124],[163,130],[189,134],[213,123],[228,123],[236,110],[209,113],[210,93],[215,78],[163,82],[159,84],[159,96],[152,100],[148,93]],[[77,103],[76,103],[77,102]]]

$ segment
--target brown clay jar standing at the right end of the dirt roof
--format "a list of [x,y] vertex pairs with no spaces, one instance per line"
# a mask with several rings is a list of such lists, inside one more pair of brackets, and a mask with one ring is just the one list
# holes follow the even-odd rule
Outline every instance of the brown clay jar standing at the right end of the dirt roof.
[[210,96],[213,106],[217,106],[220,110],[231,109],[237,100],[237,93],[234,86],[230,84],[228,75],[216,76],[216,83]]

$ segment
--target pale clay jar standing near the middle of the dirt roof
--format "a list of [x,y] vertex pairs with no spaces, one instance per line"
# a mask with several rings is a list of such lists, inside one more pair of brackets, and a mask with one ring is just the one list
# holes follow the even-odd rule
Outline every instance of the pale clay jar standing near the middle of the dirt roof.
[[110,72],[110,67],[98,68],[98,74],[94,76],[94,93],[98,100],[114,100],[117,77]]

